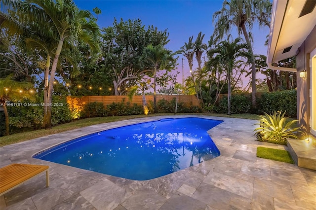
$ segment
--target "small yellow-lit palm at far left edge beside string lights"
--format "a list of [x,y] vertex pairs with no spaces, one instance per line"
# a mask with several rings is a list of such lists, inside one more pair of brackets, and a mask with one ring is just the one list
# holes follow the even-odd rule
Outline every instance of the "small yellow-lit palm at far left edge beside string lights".
[[33,99],[33,84],[29,82],[17,82],[12,76],[0,78],[0,106],[3,106],[5,116],[5,135],[9,135],[9,114],[6,108],[7,102],[18,102],[22,99]]

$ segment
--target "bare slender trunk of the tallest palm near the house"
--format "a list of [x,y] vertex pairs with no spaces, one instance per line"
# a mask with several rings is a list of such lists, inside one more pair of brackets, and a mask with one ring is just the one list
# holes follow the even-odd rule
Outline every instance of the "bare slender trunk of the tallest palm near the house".
[[246,26],[244,24],[241,25],[241,29],[242,29],[242,33],[246,39],[246,43],[248,45],[248,50],[249,53],[251,55],[251,75],[252,75],[252,81],[251,81],[251,97],[252,97],[252,107],[256,108],[256,63],[255,63],[255,57],[253,55],[253,51],[252,51],[252,45],[251,45],[251,41],[249,39],[249,35],[247,33],[246,30]]

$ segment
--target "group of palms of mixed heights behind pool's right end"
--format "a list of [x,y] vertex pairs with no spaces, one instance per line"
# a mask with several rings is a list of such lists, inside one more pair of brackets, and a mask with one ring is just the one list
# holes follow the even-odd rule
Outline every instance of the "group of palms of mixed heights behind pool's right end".
[[[216,103],[227,80],[228,114],[230,114],[232,78],[235,88],[248,65],[251,67],[252,106],[256,107],[256,59],[252,49],[251,29],[255,22],[258,22],[260,27],[270,26],[271,8],[269,0],[224,0],[222,8],[213,14],[214,33],[208,45],[202,43],[204,35],[200,32],[195,42],[191,36],[181,47],[192,72],[189,79],[192,81],[197,98],[203,102],[202,108],[208,108]],[[233,27],[237,28],[238,35],[244,36],[245,42],[240,37],[232,38],[230,33]],[[204,51],[208,61],[202,68],[201,58]],[[198,66],[196,72],[193,70],[194,55]],[[226,79],[221,81],[223,73],[226,73]],[[215,96],[211,97],[212,94]]]

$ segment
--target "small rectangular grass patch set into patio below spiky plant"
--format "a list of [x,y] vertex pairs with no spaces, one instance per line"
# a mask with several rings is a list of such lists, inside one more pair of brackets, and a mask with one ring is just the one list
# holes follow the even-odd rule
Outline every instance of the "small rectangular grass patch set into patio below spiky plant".
[[257,157],[294,164],[290,153],[286,150],[281,149],[273,149],[259,146],[257,148]]

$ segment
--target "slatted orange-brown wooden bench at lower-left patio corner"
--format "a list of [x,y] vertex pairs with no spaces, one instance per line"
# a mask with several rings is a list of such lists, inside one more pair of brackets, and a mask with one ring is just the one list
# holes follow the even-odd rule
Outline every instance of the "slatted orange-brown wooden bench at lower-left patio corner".
[[49,186],[49,166],[14,163],[0,169],[0,196],[23,184],[25,181],[46,172],[46,187]]

